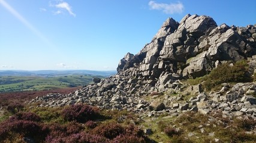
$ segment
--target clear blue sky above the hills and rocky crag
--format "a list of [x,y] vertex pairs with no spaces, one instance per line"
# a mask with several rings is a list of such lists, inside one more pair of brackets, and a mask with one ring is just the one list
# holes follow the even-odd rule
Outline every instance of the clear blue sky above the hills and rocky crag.
[[186,14],[256,24],[256,1],[0,0],[0,70],[116,70]]

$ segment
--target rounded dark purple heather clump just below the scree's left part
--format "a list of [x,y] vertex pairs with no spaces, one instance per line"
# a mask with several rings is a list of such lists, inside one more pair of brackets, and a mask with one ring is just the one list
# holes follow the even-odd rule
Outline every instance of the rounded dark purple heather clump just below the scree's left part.
[[64,108],[62,115],[65,120],[85,123],[97,117],[94,109],[89,105],[77,104]]

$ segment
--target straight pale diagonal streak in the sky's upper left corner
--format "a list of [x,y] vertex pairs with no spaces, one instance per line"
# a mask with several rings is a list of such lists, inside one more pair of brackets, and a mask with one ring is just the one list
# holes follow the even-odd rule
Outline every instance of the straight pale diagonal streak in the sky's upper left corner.
[[16,10],[14,10],[11,5],[9,5],[4,0],[0,0],[0,4],[6,8],[11,14],[14,15],[20,22],[22,22],[29,30],[31,30],[35,35],[38,36],[42,41],[46,42],[48,45],[53,46],[52,43],[39,31],[37,30],[29,21],[27,21],[22,15],[20,15]]

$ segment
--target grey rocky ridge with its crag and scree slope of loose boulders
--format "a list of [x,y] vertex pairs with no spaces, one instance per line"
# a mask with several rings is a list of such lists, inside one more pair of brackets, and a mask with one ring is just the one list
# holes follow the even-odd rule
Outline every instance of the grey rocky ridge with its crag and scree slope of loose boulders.
[[[54,107],[86,103],[100,108],[129,110],[141,117],[183,111],[256,118],[256,83],[227,83],[218,92],[203,92],[182,79],[200,77],[227,61],[249,60],[256,67],[256,27],[217,26],[208,16],[186,15],[180,23],[168,18],[138,54],[128,53],[118,73],[70,94],[48,94],[30,103]],[[194,95],[194,96],[191,96]]]

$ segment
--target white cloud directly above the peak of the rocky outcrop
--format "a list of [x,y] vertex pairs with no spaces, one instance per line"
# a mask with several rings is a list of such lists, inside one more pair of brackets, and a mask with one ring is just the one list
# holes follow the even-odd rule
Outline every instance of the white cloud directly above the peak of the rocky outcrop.
[[184,6],[181,2],[177,2],[176,4],[164,4],[150,1],[149,7],[152,10],[162,10],[165,14],[182,13],[184,10]]

